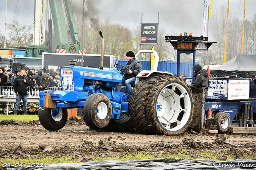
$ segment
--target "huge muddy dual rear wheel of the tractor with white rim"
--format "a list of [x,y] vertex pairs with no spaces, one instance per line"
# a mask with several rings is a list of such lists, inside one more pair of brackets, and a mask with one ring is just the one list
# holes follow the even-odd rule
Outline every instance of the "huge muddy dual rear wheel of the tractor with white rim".
[[152,75],[138,82],[130,97],[130,115],[144,134],[179,134],[192,117],[192,96],[184,81],[171,75]]

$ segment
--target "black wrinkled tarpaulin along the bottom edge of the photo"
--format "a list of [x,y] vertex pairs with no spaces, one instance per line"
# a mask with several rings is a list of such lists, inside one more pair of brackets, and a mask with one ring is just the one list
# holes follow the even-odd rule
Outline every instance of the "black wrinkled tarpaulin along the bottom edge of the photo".
[[[8,170],[18,170],[10,167]],[[90,161],[81,164],[62,163],[44,165],[40,168],[29,167],[23,170],[238,170],[256,169],[256,159],[237,159],[231,161],[216,161],[206,159],[176,159],[159,158],[130,161]]]

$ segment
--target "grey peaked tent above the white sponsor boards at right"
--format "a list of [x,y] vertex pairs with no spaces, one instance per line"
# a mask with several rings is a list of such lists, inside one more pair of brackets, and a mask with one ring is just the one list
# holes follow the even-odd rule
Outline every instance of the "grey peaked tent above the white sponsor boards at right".
[[[212,75],[221,77],[229,74],[231,78],[241,75],[241,71],[252,71],[252,77],[256,73],[256,54],[238,54],[230,61],[210,69]],[[241,76],[240,76],[241,77]]]

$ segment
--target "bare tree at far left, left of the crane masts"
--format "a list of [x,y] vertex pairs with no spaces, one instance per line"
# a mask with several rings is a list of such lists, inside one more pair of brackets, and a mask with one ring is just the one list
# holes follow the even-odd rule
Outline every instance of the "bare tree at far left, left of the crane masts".
[[12,24],[7,25],[7,28],[10,30],[10,47],[26,47],[32,45],[32,26],[26,26],[20,24],[17,20],[13,20]]

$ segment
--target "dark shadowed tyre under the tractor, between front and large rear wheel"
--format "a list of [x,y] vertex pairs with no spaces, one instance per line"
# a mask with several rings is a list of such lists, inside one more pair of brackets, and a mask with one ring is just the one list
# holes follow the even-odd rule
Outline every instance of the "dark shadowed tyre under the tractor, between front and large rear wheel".
[[134,125],[132,124],[131,117],[121,112],[119,119],[110,120],[106,130],[114,132],[131,132],[134,130]]

